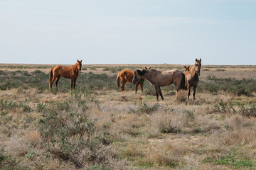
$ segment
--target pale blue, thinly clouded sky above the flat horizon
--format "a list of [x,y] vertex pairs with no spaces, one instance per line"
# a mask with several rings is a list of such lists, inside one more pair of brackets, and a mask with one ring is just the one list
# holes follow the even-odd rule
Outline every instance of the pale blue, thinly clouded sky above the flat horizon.
[[256,64],[256,0],[0,0],[0,63]]

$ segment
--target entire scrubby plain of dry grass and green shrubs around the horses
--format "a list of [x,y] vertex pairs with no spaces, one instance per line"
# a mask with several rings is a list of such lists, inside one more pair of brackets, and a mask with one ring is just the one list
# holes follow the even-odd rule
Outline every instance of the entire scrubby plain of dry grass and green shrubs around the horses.
[[0,66],[0,169],[256,169],[255,67],[203,66],[188,103],[146,81],[121,94],[117,73],[138,66],[83,66],[72,92],[48,89],[50,67]]

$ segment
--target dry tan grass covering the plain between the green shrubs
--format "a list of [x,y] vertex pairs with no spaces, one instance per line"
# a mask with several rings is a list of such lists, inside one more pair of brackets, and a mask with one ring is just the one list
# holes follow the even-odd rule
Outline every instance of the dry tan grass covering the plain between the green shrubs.
[[[159,69],[169,66],[174,67],[168,64],[154,65]],[[115,74],[104,71],[105,65],[85,67],[88,68],[86,72]],[[208,71],[202,72],[201,79],[209,74],[237,79],[255,77],[252,72],[248,72],[247,67],[236,69],[229,66],[206,66],[203,69]],[[82,96],[79,97],[79,94]],[[241,113],[213,110],[220,102],[239,102],[249,107],[255,104],[255,94],[249,97],[235,96],[223,91],[214,95],[198,92],[196,101],[192,97],[188,103],[186,91],[179,91],[174,96],[169,90],[163,90],[163,94],[164,101],[156,103],[155,96],[141,91],[136,96],[134,89],[126,91],[125,94],[120,94],[119,89],[78,89],[78,96],[69,91],[41,92],[36,88],[0,91],[1,100],[17,104],[0,105],[0,156],[5,160],[4,164],[0,162],[0,169],[78,169],[74,160],[63,159],[60,153],[58,155],[49,152],[49,149],[63,147],[61,142],[50,145],[53,140],[61,141],[57,132],[52,138],[46,138],[38,125],[43,116],[50,113],[57,113],[58,118],[63,118],[60,123],[64,127],[68,126],[71,131],[74,130],[75,135],[67,138],[71,151],[63,147],[70,152],[80,147],[79,133],[76,134],[75,130],[80,130],[81,135],[84,132],[82,123],[87,125],[86,123],[91,123],[89,120],[95,120],[92,139],[101,139],[102,144],[91,145],[92,148],[98,147],[94,154],[89,147],[73,154],[81,162],[89,160],[84,169],[256,168],[256,118]],[[53,120],[53,125],[57,123],[55,121]],[[87,140],[88,137],[83,136],[82,139]],[[78,147],[73,147],[73,143]],[[6,158],[8,155],[11,155],[9,159]],[[94,160],[92,163],[90,161],[93,157],[89,158],[87,155],[94,155],[105,161]],[[226,162],[228,159],[231,161]],[[16,164],[11,164],[12,161]]]

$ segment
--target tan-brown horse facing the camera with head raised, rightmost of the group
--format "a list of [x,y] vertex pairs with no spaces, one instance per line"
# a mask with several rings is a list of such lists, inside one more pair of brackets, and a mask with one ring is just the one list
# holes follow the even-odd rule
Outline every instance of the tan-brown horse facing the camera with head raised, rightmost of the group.
[[185,84],[186,84],[186,87],[188,88],[187,101],[191,94],[191,86],[193,86],[193,101],[195,101],[196,87],[198,86],[200,70],[201,70],[201,59],[197,60],[196,58],[196,62],[193,65],[193,67],[188,72],[185,72]]

